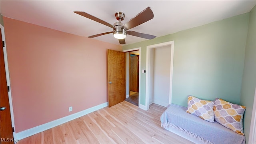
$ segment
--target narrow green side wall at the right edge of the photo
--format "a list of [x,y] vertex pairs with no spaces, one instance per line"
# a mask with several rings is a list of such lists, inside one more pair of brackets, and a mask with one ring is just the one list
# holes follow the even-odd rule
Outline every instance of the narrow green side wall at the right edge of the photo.
[[245,48],[244,74],[240,104],[246,106],[244,114],[244,134],[248,143],[252,108],[256,86],[256,6],[250,11],[248,35]]

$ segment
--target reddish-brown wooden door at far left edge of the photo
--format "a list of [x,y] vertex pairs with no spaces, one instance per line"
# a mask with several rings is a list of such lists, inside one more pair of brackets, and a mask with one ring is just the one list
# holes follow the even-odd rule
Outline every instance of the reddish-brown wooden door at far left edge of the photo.
[[[8,98],[8,88],[6,82],[6,74],[5,74],[5,66],[4,66],[4,49],[2,43],[2,32],[0,33],[0,43],[1,43],[1,50],[0,50],[0,60],[1,60],[1,96],[0,96],[0,137],[1,137],[1,144],[14,144],[13,135],[12,135],[12,121],[11,121],[11,113],[10,113],[10,104]],[[5,109],[4,109],[5,108]]]

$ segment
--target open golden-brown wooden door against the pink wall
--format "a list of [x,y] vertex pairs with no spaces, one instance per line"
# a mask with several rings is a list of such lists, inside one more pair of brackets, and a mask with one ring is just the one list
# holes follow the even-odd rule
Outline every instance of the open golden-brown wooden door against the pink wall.
[[108,50],[108,106],[114,106],[126,98],[125,54]]

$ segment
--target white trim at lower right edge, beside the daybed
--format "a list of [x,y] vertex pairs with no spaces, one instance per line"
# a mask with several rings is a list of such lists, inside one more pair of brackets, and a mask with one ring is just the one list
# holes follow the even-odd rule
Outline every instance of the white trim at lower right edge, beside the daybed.
[[249,133],[249,144],[256,144],[256,87],[254,92],[254,102],[252,108],[252,120]]

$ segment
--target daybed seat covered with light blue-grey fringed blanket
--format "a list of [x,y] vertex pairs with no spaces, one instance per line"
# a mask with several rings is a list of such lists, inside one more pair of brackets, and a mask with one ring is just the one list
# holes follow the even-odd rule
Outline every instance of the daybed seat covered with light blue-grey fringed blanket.
[[245,144],[245,136],[186,112],[186,107],[170,104],[161,116],[161,126],[192,142],[206,144]]

